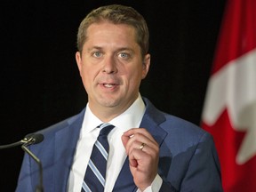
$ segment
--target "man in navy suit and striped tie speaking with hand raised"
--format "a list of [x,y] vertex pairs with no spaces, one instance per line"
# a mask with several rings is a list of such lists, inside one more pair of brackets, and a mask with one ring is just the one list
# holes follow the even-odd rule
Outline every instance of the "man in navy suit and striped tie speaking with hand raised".
[[[87,191],[103,123],[115,126],[108,134],[105,191],[222,191],[211,135],[140,96],[150,65],[148,27],[140,13],[117,4],[93,10],[80,24],[77,48],[88,104],[40,131],[44,141],[30,148],[44,166],[45,191]],[[17,191],[34,191],[38,180],[37,165],[25,156]]]

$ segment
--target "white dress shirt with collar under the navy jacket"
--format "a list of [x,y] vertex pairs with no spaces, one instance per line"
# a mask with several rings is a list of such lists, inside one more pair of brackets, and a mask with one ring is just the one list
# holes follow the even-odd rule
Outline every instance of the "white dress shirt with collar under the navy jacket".
[[[123,167],[125,158],[127,157],[121,136],[125,131],[140,126],[144,112],[145,105],[139,95],[138,99],[133,102],[130,108],[124,111],[124,113],[120,116],[116,116],[114,119],[108,122],[116,127],[108,134],[109,152],[104,190],[105,192],[113,190],[117,176]],[[76,145],[73,165],[69,173],[69,192],[81,191],[85,170],[92,153],[92,147],[100,133],[100,129],[96,127],[102,123],[103,122],[101,122],[98,117],[92,114],[92,111],[87,104],[82,129]],[[150,187],[147,188],[147,191],[158,191],[162,185],[162,179],[158,175],[153,182],[154,186],[156,185],[157,190],[152,190]]]

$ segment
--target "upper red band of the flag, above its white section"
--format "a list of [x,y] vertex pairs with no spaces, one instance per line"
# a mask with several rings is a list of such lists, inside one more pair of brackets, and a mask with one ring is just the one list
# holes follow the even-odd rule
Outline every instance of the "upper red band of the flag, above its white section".
[[212,74],[256,47],[255,9],[255,0],[227,1]]

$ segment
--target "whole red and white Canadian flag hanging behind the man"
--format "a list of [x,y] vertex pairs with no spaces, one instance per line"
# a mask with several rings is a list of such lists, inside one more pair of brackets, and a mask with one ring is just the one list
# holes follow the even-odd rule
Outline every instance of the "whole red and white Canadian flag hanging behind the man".
[[202,127],[214,138],[224,191],[256,191],[256,0],[227,0]]

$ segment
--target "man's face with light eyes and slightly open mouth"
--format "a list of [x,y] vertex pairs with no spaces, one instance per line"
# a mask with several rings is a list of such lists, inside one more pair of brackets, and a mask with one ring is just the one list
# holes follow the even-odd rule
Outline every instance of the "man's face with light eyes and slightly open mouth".
[[124,24],[102,22],[88,28],[76,62],[92,112],[112,109],[117,116],[137,99],[150,55],[141,58],[135,39],[135,29]]

